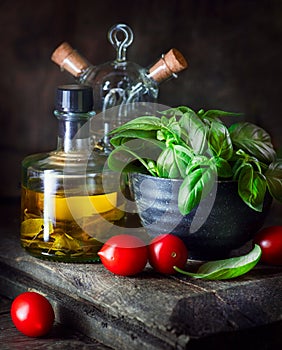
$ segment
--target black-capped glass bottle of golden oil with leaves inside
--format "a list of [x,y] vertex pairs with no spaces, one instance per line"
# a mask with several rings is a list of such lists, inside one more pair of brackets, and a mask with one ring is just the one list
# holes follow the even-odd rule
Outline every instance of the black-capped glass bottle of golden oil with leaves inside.
[[59,86],[57,149],[22,162],[21,244],[35,257],[98,261],[124,216],[123,181],[105,156],[92,152],[92,109],[91,87]]

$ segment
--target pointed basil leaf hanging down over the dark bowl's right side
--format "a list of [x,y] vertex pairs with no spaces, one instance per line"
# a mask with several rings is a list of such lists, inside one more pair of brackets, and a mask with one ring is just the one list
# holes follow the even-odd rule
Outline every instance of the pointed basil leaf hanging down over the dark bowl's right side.
[[252,209],[262,211],[266,192],[266,178],[255,171],[251,164],[241,167],[238,178],[238,193]]

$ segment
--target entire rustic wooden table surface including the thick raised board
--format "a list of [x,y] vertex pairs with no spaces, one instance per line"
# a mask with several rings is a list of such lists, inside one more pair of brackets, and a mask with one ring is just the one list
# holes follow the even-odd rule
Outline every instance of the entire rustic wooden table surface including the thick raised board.
[[[280,267],[259,264],[247,275],[230,281],[166,277],[149,266],[138,277],[119,277],[99,263],[64,264],[29,256],[19,243],[19,203],[5,201],[0,209],[0,294],[12,300],[33,289],[48,296],[57,322],[54,332],[39,340],[48,349],[58,349],[60,342],[60,349],[71,349],[70,344],[77,342],[82,349],[282,346]],[[280,207],[273,207],[268,221],[282,224]],[[18,333],[8,307],[5,301],[0,329],[1,344],[10,345],[1,345],[1,349],[41,349],[36,339],[28,339],[28,347],[15,345]],[[67,333],[72,335],[66,339],[68,329],[73,333]]]

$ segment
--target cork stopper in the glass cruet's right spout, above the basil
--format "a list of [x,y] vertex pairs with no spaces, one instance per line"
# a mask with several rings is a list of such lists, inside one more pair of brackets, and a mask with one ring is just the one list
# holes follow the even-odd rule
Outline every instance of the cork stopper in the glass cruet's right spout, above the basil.
[[161,82],[171,76],[177,77],[178,72],[186,69],[188,63],[181,52],[171,49],[149,69],[150,78]]

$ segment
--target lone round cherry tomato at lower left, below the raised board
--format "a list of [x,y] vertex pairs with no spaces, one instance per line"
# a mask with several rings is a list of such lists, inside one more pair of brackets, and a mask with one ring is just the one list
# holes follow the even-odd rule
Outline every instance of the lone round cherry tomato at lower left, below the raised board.
[[20,332],[29,337],[40,337],[51,330],[55,314],[52,305],[43,295],[25,292],[14,299],[11,317]]

